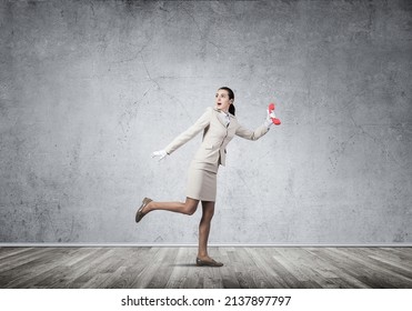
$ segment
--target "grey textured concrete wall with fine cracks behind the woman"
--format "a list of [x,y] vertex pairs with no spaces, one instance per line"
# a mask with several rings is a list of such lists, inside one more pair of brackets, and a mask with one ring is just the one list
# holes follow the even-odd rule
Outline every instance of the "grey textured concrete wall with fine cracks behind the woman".
[[239,120],[211,243],[412,242],[411,1],[1,1],[0,242],[197,243],[184,200],[221,86]]

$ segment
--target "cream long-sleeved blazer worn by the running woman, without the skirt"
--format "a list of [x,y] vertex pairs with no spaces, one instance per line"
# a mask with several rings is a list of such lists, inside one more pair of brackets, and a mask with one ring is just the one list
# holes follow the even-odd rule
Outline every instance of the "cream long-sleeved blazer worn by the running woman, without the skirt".
[[254,131],[248,130],[239,124],[238,119],[232,114],[230,114],[230,124],[227,127],[219,118],[219,113],[221,112],[218,109],[207,108],[202,117],[169,143],[164,150],[171,154],[203,130],[203,141],[193,162],[197,162],[198,167],[215,167],[217,170],[219,164],[225,164],[225,148],[234,136],[258,140],[269,131],[265,126],[261,126]]

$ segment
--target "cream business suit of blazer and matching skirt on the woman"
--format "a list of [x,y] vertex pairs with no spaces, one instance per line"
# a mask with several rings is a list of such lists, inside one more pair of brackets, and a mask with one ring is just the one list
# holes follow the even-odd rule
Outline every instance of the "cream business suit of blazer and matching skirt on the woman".
[[215,201],[218,168],[219,164],[225,164],[228,143],[234,136],[257,140],[269,131],[265,126],[261,126],[254,131],[245,129],[230,113],[230,122],[225,124],[220,118],[221,113],[218,109],[208,108],[193,126],[178,136],[164,149],[171,154],[203,130],[203,141],[189,168],[188,198]]

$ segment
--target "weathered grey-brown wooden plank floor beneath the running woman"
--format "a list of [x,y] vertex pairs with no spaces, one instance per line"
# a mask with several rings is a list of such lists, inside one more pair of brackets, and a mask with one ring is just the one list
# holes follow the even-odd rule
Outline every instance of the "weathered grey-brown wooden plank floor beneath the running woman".
[[412,288],[412,248],[0,248],[0,288]]

